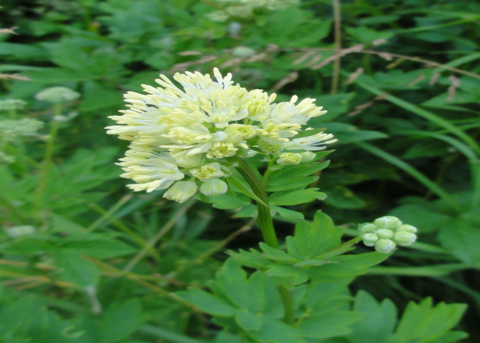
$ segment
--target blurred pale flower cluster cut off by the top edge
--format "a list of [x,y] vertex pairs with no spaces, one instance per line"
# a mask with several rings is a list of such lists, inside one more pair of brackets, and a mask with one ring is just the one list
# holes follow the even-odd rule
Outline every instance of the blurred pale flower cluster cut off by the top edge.
[[226,21],[230,16],[248,18],[254,15],[254,10],[285,10],[290,5],[296,5],[299,0],[215,0],[215,5],[221,8],[207,14],[213,21]]

